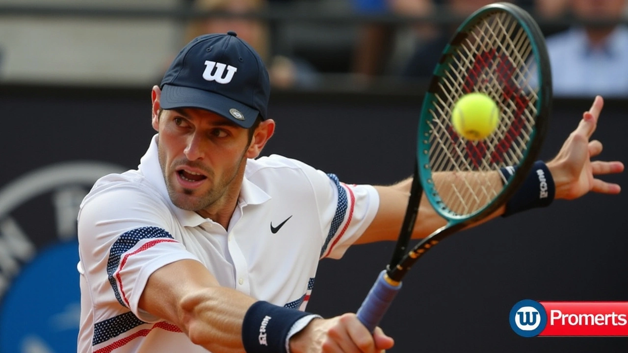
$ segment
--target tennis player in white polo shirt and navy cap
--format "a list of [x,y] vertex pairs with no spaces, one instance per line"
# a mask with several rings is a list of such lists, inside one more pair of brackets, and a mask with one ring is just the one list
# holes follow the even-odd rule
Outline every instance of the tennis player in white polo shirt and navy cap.
[[[275,128],[268,99],[261,59],[233,32],[192,40],[153,87],[157,134],[138,169],[104,176],[80,207],[78,352],[393,347],[353,313],[322,318],[304,310],[320,259],[396,239],[410,180],[349,185],[298,160],[259,157]],[[597,97],[541,166],[546,200],[507,207],[620,192],[597,176],[619,173],[622,163],[590,161],[602,151],[589,141],[602,105]],[[520,192],[539,195],[536,171],[529,178],[536,186]],[[444,224],[422,202],[414,237]]]

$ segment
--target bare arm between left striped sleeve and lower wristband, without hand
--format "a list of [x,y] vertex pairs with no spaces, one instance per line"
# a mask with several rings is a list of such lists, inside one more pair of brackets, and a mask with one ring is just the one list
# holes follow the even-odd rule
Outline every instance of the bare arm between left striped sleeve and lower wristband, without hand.
[[174,323],[194,344],[228,353],[244,352],[242,321],[255,301],[220,286],[198,261],[181,260],[151,274],[139,308]]

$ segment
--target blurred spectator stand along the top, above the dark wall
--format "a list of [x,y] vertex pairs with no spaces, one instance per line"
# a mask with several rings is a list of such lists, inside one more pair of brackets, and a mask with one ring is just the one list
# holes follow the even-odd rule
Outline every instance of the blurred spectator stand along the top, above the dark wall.
[[[284,90],[421,85],[486,0],[0,0],[0,83],[143,87],[193,37],[234,30]],[[557,96],[628,95],[626,0],[516,0]]]

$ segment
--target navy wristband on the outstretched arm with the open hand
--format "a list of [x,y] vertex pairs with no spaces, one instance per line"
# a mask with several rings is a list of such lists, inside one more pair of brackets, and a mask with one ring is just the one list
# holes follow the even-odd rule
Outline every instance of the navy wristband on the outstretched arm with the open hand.
[[[503,180],[508,180],[515,172],[516,167],[501,168]],[[536,161],[530,173],[506,204],[506,211],[502,217],[508,217],[536,207],[546,207],[554,200],[556,187],[548,167],[543,161]]]

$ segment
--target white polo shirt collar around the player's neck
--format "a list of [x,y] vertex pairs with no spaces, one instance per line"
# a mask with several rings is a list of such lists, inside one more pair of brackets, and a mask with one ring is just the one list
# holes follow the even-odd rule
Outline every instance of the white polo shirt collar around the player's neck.
[[[146,180],[148,180],[148,182],[153,185],[156,190],[158,190],[161,197],[166,200],[168,206],[181,225],[185,227],[196,227],[197,225],[205,223],[207,220],[196,212],[180,209],[170,200],[168,188],[166,188],[166,182],[163,178],[163,171],[161,171],[159,162],[159,152],[157,148],[158,136],[158,134],[155,134],[151,139],[148,151],[146,151],[139,162],[139,171],[144,175]],[[246,176],[244,177],[244,180],[242,180],[240,195],[238,196],[238,203],[241,207],[246,205],[263,204],[270,198],[271,197],[268,193],[264,192],[264,190],[248,180]]]

